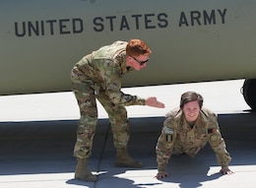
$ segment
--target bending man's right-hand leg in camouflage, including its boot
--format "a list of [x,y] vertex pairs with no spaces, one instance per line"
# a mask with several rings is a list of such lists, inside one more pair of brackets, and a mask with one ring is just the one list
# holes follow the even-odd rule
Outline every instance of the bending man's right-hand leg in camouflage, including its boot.
[[127,152],[130,132],[126,108],[112,103],[108,95],[103,92],[97,94],[97,99],[106,110],[111,124],[113,144],[117,153],[115,165],[119,167],[142,167],[142,163],[129,157]]

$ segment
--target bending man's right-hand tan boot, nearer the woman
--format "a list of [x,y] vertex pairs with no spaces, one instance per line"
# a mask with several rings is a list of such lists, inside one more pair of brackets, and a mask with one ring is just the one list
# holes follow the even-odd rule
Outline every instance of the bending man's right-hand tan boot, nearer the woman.
[[117,148],[116,149],[116,167],[133,167],[141,168],[143,167],[142,162],[136,161],[129,157],[127,153],[127,148]]

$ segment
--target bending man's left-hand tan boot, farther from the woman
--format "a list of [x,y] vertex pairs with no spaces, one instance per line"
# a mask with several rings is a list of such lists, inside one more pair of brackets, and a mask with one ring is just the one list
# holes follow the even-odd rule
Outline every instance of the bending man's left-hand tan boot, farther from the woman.
[[87,167],[87,158],[78,158],[75,179],[82,181],[96,181],[96,175],[92,174]]

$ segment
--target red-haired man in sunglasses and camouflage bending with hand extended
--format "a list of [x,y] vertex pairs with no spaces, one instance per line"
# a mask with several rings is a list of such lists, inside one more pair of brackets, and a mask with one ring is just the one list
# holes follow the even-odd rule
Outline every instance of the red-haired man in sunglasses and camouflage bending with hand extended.
[[140,98],[137,95],[121,92],[121,77],[147,66],[152,51],[141,39],[115,41],[102,46],[83,57],[71,72],[72,90],[78,100],[80,121],[77,129],[77,142],[74,157],[77,157],[75,178],[83,181],[96,181],[96,175],[88,169],[88,157],[92,155],[93,139],[96,132],[96,99],[108,114],[116,148],[118,167],[142,167],[142,163],[129,157],[127,142],[129,127],[127,105],[148,105],[164,107],[157,97]]

